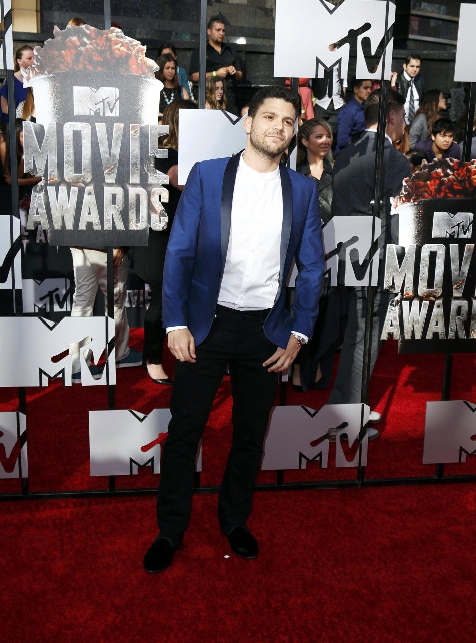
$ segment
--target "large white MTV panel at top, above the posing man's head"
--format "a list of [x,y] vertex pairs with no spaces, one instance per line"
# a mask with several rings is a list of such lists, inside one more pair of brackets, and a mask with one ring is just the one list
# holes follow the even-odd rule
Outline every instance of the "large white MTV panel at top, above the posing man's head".
[[[339,78],[347,78],[352,56],[357,58],[357,78],[381,78],[385,33],[394,20],[394,3],[382,0],[343,0],[339,6],[326,0],[300,0],[299,10],[295,0],[276,0],[274,76],[322,78],[326,69],[337,68]],[[291,48],[290,33],[299,33]],[[331,51],[334,43],[337,48]],[[385,53],[387,78],[391,73],[392,47],[393,39]],[[375,57],[380,62],[371,72]]]

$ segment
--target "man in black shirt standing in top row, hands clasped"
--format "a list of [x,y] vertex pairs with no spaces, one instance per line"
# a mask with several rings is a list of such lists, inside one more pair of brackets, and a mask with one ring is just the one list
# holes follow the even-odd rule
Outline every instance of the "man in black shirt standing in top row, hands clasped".
[[[238,116],[235,84],[243,78],[242,63],[231,44],[224,42],[226,26],[220,16],[208,22],[207,34],[207,67],[206,77],[218,76],[226,84],[227,111]],[[190,59],[190,78],[192,82],[200,80],[198,73],[198,49],[192,51]]]

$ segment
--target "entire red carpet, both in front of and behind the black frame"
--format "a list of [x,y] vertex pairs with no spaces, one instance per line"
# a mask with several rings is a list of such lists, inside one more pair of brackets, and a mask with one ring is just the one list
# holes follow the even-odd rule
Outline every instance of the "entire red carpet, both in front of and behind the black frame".
[[[134,331],[135,347],[141,332]],[[476,401],[475,358],[454,358],[452,399]],[[170,364],[170,361],[168,362]],[[367,478],[434,475],[423,466],[425,404],[441,398],[443,356],[399,356],[387,342],[371,385],[385,413],[369,445]],[[288,404],[315,409],[329,390]],[[117,408],[166,407],[169,389],[139,368],[120,370]],[[17,408],[0,390],[0,411]],[[27,391],[32,491],[107,488],[89,476],[87,412],[107,408],[105,388]],[[204,436],[202,484],[219,484],[230,440],[229,383]],[[330,457],[330,463],[332,458]],[[475,458],[445,467],[475,474]],[[355,478],[355,469],[287,472],[285,480]],[[272,472],[261,482],[272,482]],[[118,487],[152,486],[145,472]],[[18,491],[0,481],[0,493]],[[216,494],[196,495],[190,530],[168,572],[142,570],[156,533],[147,497],[0,503],[5,643],[227,641],[470,643],[476,608],[473,484],[256,493],[249,525],[256,561],[229,554]]]

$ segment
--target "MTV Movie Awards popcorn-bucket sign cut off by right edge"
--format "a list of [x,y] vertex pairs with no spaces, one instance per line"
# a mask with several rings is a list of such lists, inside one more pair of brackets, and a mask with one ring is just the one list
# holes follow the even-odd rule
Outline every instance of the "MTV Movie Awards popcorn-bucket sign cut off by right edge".
[[400,352],[476,351],[476,161],[434,159],[394,200],[399,246],[387,245],[395,293],[382,339]]

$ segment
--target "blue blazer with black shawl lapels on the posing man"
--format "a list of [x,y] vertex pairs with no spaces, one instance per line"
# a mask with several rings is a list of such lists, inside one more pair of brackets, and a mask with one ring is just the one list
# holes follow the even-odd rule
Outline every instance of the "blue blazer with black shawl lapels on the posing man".
[[[198,345],[215,318],[227,256],[231,206],[240,154],[196,163],[188,177],[167,246],[163,282],[164,327],[187,326]],[[312,336],[321,293],[324,253],[317,185],[279,165],[283,225],[279,290],[263,325],[267,338],[285,348],[290,332]],[[285,309],[286,278],[295,258],[293,318]]]

